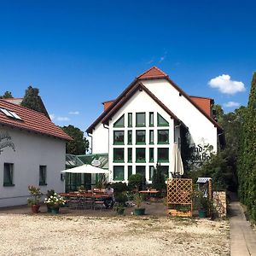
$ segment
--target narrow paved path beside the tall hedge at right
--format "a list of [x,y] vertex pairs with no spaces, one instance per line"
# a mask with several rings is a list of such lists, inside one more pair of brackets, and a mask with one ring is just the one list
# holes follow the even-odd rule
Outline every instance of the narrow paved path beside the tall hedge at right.
[[230,255],[256,256],[256,233],[238,201],[230,203]]

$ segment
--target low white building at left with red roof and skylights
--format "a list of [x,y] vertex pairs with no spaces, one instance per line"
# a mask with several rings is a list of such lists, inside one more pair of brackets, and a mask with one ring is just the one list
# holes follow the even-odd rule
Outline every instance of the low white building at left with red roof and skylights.
[[0,100],[0,207],[26,204],[28,185],[63,192],[71,139],[43,113]]

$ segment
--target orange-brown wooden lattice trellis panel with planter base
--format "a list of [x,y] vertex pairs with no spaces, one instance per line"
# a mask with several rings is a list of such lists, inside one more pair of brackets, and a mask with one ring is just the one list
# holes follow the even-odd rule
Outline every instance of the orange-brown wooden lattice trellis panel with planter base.
[[[167,181],[167,214],[172,216],[192,216],[192,179],[172,178]],[[187,207],[181,211],[177,207]]]

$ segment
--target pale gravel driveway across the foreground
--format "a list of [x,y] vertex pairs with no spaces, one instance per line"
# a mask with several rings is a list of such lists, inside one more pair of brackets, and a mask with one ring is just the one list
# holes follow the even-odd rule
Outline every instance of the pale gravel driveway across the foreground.
[[0,212],[0,255],[229,255],[229,224],[207,219]]

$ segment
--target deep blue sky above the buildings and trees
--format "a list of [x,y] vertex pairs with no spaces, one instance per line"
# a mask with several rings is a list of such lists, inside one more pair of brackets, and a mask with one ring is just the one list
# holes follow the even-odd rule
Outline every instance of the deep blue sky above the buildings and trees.
[[246,0],[2,0],[0,94],[38,87],[55,124],[84,131],[102,102],[157,66],[189,95],[246,105],[255,9]]

